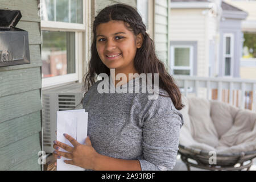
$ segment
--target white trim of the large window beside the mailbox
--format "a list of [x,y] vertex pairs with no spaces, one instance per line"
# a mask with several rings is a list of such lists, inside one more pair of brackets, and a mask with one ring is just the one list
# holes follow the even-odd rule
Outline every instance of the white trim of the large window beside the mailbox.
[[[60,86],[63,84],[68,84],[69,82],[75,82],[75,81],[81,81],[81,77],[83,76],[84,70],[81,69],[83,64],[84,55],[82,51],[82,47],[85,47],[85,40],[82,40],[83,34],[86,34],[86,26],[85,24],[88,24],[88,16],[90,11],[88,11],[88,14],[85,12],[85,10],[88,10],[90,7],[90,3],[87,0],[83,1],[83,24],[81,23],[65,23],[65,22],[53,22],[53,21],[46,21],[41,20],[41,30],[46,31],[71,31],[75,32],[75,64],[76,64],[76,70],[75,73],[71,73],[68,75],[61,75],[61,76],[55,76],[55,77],[48,77],[48,78],[42,78],[42,88],[48,89],[53,88],[55,86]],[[86,34],[87,35],[87,34]],[[87,37],[87,36],[86,36]]]

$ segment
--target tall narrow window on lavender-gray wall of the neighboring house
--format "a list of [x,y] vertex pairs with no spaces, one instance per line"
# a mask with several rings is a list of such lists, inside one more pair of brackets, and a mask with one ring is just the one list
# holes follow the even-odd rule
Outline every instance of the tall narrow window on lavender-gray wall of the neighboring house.
[[224,76],[233,75],[234,35],[224,34]]

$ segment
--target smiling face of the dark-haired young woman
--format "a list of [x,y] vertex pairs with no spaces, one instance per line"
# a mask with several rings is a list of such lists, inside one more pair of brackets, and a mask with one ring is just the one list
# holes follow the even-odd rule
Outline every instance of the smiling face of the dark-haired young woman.
[[102,63],[118,72],[134,71],[134,57],[141,48],[142,36],[137,37],[125,27],[123,21],[111,20],[96,28],[97,52]]

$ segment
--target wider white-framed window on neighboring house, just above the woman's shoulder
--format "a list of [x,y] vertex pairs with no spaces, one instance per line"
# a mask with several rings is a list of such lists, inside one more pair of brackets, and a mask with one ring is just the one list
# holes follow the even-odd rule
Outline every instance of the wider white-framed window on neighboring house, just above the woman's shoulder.
[[171,46],[171,72],[174,75],[193,75],[193,46]]

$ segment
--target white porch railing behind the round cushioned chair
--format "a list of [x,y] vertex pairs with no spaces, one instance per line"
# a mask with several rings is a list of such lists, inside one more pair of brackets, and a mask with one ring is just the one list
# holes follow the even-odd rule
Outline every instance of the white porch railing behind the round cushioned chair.
[[194,94],[256,111],[256,80],[177,75],[174,79],[185,96]]

